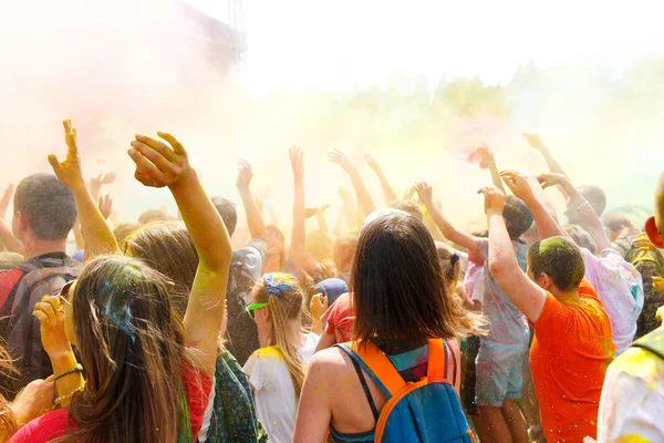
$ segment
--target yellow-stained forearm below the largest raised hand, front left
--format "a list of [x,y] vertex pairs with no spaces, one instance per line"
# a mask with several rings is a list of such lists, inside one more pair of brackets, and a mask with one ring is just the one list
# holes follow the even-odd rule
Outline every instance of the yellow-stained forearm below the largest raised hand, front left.
[[169,189],[198,251],[199,268],[228,272],[232,253],[228,230],[196,172],[191,169]]

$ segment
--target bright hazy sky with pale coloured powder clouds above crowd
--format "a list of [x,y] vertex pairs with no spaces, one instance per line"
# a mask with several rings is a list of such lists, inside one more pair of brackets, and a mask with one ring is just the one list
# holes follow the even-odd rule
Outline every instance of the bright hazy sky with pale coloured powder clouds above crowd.
[[376,203],[367,152],[400,193],[428,179],[453,219],[481,223],[476,189],[489,176],[466,150],[487,143],[499,167],[543,171],[521,132],[539,132],[610,206],[652,203],[664,165],[661,2],[186,3],[2,0],[0,185],[48,171],[71,116],[86,172],[117,171],[125,219],[175,210],[167,193],[133,183],[124,154],[132,134],[157,128],[186,142],[214,194],[239,202],[235,163],[252,162],[283,226],[291,144],[305,150],[310,206],[338,208],[336,188],[350,186],[325,159],[336,147]]

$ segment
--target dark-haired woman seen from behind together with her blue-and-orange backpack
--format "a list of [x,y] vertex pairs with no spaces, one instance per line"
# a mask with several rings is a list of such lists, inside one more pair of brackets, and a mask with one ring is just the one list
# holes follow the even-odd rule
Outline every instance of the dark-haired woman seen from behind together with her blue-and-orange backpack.
[[[458,432],[455,441],[466,441],[467,423],[458,391],[452,388],[458,387],[460,378],[458,349],[440,339],[452,344],[454,338],[480,332],[478,318],[463,310],[449,292],[433,238],[421,222],[395,210],[377,212],[367,220],[352,272],[353,341],[314,354],[302,388],[293,441],[323,441],[329,430],[329,441],[334,442],[433,442],[450,432]],[[430,354],[432,347],[436,357]],[[365,351],[380,357],[381,370]],[[438,361],[435,368],[429,364]],[[387,372],[390,381],[397,382],[395,389],[384,388]],[[440,377],[433,377],[436,372]],[[443,390],[444,398],[439,395]],[[408,409],[412,403],[402,400],[402,393],[417,396],[418,392],[433,394],[426,411],[435,411],[435,419],[422,409]],[[394,409],[385,408],[390,398]],[[392,425],[384,427],[387,416],[400,431],[408,430],[407,435]],[[425,427],[426,433],[413,433]]]

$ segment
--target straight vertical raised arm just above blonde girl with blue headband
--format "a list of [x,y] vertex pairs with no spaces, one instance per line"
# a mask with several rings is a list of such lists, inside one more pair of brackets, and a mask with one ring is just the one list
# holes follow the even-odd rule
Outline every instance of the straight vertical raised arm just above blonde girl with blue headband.
[[298,270],[304,264],[304,253],[307,248],[307,228],[304,207],[304,163],[302,161],[302,150],[291,147],[290,150],[291,167],[293,169],[295,199],[293,203],[293,231],[291,235],[291,247],[289,259]]

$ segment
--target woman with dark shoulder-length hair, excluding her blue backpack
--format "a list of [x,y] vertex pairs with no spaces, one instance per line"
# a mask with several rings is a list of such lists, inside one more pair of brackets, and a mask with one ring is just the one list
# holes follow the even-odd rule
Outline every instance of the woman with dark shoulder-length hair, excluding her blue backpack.
[[[384,210],[365,222],[351,288],[355,323],[349,349],[377,348],[406,383],[427,375],[427,343],[483,333],[483,318],[453,297],[426,227],[401,210]],[[459,368],[447,361],[452,379]],[[329,441],[372,442],[386,402],[366,367],[340,347],[322,350],[304,379],[293,441],[323,442],[330,431]],[[463,416],[460,405],[458,413]]]

